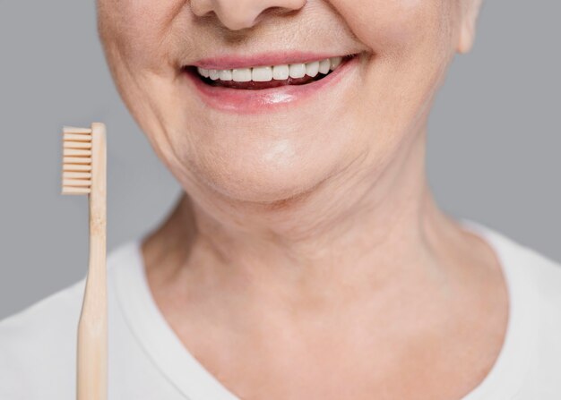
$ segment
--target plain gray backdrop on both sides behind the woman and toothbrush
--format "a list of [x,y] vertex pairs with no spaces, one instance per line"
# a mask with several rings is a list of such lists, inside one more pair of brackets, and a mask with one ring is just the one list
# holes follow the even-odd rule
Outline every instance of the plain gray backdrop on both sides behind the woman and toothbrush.
[[[429,122],[441,207],[561,260],[561,3],[486,0]],[[147,232],[179,187],[118,98],[93,1],[0,0],[0,319],[81,279],[85,196],[61,196],[61,128],[108,124],[108,248]]]

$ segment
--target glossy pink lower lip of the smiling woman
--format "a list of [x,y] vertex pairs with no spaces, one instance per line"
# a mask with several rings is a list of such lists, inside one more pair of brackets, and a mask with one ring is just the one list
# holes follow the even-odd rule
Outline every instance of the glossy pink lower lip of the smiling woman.
[[270,89],[232,89],[211,86],[204,83],[195,73],[184,72],[184,74],[194,83],[197,93],[206,105],[234,114],[260,114],[280,107],[297,106],[298,102],[332,88],[357,64],[358,56],[354,56],[319,81]]

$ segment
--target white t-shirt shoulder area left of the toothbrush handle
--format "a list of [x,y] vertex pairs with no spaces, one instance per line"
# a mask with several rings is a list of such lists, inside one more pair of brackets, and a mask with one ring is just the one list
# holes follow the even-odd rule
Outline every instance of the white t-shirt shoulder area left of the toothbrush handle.
[[72,386],[83,285],[82,279],[0,321],[0,398],[51,398],[49,390],[61,395],[61,383]]

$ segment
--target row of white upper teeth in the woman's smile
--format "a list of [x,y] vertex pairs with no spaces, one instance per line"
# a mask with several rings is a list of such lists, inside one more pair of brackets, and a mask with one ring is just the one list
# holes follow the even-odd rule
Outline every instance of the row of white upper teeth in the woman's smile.
[[312,63],[298,63],[272,66],[257,66],[253,68],[235,68],[232,70],[207,70],[197,67],[197,71],[205,78],[212,81],[236,81],[236,82],[267,82],[272,80],[284,81],[290,78],[304,78],[308,75],[312,78],[318,73],[328,73],[335,70],[342,61],[342,57],[327,58]]

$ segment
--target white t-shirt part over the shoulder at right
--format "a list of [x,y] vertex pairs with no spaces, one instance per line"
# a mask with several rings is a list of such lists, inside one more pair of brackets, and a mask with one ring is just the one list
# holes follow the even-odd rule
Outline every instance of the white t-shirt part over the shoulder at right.
[[493,398],[560,399],[561,263],[494,228],[461,222],[496,251],[509,294],[505,345],[488,379],[508,396]]

